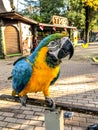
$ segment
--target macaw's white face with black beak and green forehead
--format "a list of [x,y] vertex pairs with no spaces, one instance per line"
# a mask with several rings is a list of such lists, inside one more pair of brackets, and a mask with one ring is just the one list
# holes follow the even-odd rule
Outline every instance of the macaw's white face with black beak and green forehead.
[[[52,38],[55,37],[55,38]],[[74,47],[72,42],[64,34],[52,34],[51,40],[48,42],[48,53],[51,57],[56,60],[61,60],[69,55],[69,59],[73,56]]]

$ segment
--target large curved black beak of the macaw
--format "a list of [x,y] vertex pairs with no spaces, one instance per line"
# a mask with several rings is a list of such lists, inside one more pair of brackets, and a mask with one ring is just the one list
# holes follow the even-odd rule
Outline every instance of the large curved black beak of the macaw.
[[67,39],[58,53],[58,58],[61,59],[69,55],[69,59],[71,59],[73,54],[74,54],[74,47],[72,45],[72,42],[69,39]]

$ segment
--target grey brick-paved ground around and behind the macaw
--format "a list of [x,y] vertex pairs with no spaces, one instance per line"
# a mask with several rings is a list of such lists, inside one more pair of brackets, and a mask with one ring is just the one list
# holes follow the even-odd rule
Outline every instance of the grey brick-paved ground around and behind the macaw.
[[[88,49],[79,46],[72,60],[62,62],[60,78],[50,87],[55,101],[98,108],[98,65],[90,62],[97,52],[98,44]],[[11,94],[11,81],[7,77],[15,59],[0,60],[0,94]],[[42,93],[29,96],[44,99]],[[74,113],[64,123],[64,130],[86,130],[88,125],[98,123],[98,116]],[[0,130],[45,130],[44,108],[0,101]]]

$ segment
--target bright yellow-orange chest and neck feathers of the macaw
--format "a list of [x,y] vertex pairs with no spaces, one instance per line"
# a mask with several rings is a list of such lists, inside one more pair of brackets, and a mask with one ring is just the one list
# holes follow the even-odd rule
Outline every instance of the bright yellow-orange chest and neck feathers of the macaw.
[[57,76],[60,66],[51,68],[46,63],[48,49],[42,48],[32,67],[32,76],[20,95],[30,92],[47,91],[51,81]]

